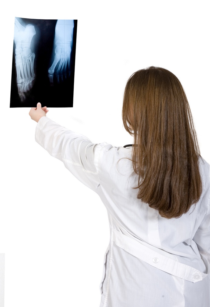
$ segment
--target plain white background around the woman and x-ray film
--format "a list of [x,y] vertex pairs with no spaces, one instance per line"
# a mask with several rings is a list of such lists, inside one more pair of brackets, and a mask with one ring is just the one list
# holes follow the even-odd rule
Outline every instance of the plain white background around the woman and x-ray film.
[[164,67],[186,91],[201,155],[210,162],[208,1],[4,3],[0,252],[5,253],[5,306],[99,306],[107,213],[94,192],[35,142],[30,108],[9,108],[14,17],[78,19],[74,107],[49,108],[51,119],[95,143],[128,144],[132,139],[121,119],[127,79],[141,68]]

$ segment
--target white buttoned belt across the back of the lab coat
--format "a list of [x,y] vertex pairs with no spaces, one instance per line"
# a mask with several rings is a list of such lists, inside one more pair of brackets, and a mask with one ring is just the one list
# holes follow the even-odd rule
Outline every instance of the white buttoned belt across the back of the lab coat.
[[[179,278],[188,280],[190,282],[199,282],[203,280],[208,274],[202,273],[199,270],[183,264],[175,258],[175,255],[168,254],[168,256],[161,255],[157,251],[145,246],[142,242],[124,235],[122,232],[112,228],[111,240],[115,242],[118,247],[123,248],[131,255],[143,260],[144,262],[156,267],[159,270],[177,276]],[[166,252],[164,252],[166,254]]]

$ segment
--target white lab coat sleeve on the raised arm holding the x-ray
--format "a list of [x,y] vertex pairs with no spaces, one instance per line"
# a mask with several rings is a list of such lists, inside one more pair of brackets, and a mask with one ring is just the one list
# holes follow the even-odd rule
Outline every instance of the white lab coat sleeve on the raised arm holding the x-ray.
[[98,158],[103,144],[93,144],[82,134],[68,130],[43,116],[36,126],[35,140],[83,184],[95,190],[100,185]]

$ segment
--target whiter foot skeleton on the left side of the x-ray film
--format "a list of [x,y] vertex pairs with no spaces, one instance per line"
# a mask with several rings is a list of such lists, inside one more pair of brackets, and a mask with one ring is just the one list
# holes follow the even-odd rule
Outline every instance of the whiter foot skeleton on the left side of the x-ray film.
[[34,80],[34,59],[35,54],[31,51],[31,40],[36,34],[33,25],[25,27],[15,18],[15,65],[17,71],[17,87],[21,101],[25,99],[25,93],[32,87]]

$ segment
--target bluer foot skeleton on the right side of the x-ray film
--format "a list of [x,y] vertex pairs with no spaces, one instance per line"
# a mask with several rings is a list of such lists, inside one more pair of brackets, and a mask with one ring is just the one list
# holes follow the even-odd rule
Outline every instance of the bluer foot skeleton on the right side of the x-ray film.
[[58,20],[55,27],[53,64],[48,70],[50,84],[70,76],[70,55],[73,44],[73,20]]

